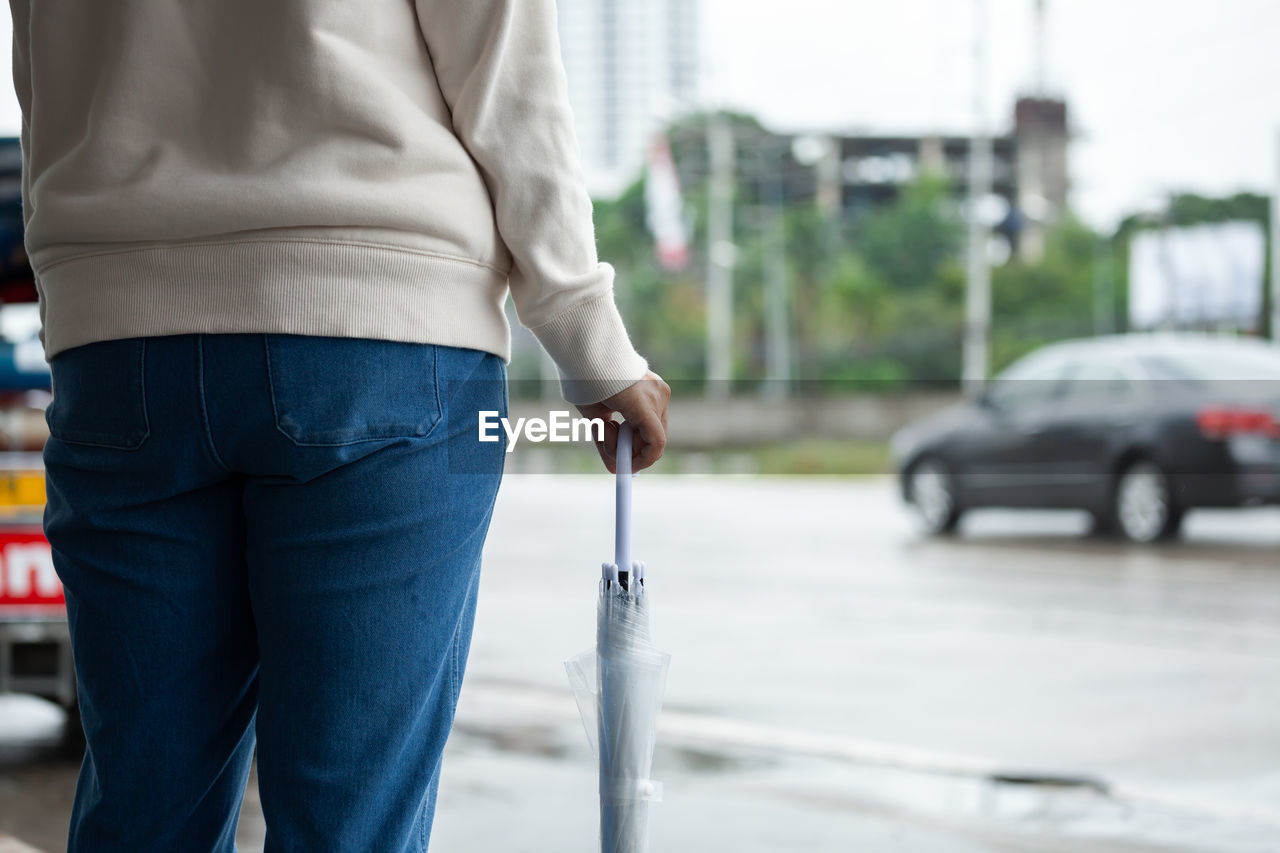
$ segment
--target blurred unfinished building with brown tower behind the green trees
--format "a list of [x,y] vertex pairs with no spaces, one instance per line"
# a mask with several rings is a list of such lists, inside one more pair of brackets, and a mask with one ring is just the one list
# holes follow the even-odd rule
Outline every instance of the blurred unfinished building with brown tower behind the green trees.
[[[957,200],[968,196],[966,136],[777,133],[746,117],[735,118],[733,132],[745,201],[815,199],[854,223],[927,173],[946,178]],[[671,136],[681,183],[695,186],[709,172],[705,122],[686,120],[672,127]],[[1046,229],[1068,209],[1069,143],[1068,104],[1055,97],[1019,99],[1011,126],[993,140],[995,197],[983,204],[983,214],[1024,260],[1043,255]]]

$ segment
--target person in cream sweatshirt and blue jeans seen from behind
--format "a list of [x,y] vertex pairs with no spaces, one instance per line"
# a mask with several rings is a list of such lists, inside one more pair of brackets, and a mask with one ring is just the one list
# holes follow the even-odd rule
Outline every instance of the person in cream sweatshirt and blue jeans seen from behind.
[[[669,388],[596,256],[554,0],[10,0],[52,373],[70,850],[422,850],[509,292],[635,467]],[[614,470],[616,425],[599,451]]]

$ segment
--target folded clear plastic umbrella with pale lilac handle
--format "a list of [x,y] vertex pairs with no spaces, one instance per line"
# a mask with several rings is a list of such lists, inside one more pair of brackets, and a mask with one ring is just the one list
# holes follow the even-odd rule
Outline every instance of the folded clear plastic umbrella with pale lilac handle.
[[618,432],[614,560],[604,564],[596,599],[595,648],[564,662],[588,740],[600,765],[600,850],[644,853],[649,803],[662,786],[649,777],[671,656],[649,638],[644,564],[631,561],[631,426]]

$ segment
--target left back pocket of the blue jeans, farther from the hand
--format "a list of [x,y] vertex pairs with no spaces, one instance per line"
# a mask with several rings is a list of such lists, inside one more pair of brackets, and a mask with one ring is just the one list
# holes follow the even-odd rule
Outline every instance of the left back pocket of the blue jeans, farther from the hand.
[[49,434],[68,444],[138,450],[151,426],[143,388],[143,338],[96,341],[50,359]]

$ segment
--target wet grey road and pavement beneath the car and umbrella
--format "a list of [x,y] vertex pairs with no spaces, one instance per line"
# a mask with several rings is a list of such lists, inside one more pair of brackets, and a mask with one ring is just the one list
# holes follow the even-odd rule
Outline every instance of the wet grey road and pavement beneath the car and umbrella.
[[[594,640],[611,485],[503,485],[435,850],[595,843],[562,661]],[[1137,547],[1053,512],[925,539],[887,479],[654,475],[635,501],[673,656],[654,850],[1280,850],[1280,510]],[[0,699],[0,740],[55,716]],[[60,849],[76,766],[18,739],[0,833]],[[241,849],[261,831],[251,786]]]

